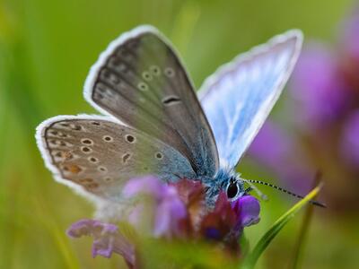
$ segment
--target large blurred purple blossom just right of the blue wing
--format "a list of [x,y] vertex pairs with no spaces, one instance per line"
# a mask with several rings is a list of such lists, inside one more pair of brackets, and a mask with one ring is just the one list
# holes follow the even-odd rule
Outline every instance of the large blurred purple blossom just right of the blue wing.
[[303,129],[317,130],[342,117],[348,107],[346,83],[336,56],[324,45],[313,43],[302,51],[294,69],[291,94]]

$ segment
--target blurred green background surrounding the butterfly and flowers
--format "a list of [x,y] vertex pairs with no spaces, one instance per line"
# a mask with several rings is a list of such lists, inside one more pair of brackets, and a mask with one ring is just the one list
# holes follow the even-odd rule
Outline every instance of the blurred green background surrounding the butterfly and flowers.
[[[0,268],[117,268],[120,262],[92,259],[90,239],[66,237],[72,222],[92,216],[92,205],[52,179],[34,139],[35,127],[47,117],[96,113],[83,100],[83,82],[110,40],[138,24],[153,24],[179,49],[199,87],[218,65],[284,30],[332,39],[352,7],[350,0],[1,0]],[[250,161],[240,170],[270,178]],[[293,204],[266,193],[270,201],[262,205],[261,221],[247,230],[251,245]],[[294,220],[258,268],[290,264],[302,218]],[[302,267],[357,268],[358,224],[355,213],[316,210]]]

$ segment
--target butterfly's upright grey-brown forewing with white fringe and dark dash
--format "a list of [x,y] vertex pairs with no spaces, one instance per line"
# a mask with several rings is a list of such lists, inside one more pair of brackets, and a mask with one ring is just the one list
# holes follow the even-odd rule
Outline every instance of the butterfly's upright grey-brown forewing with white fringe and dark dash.
[[[214,176],[212,131],[178,56],[152,28],[110,44],[92,67],[85,97],[128,126],[171,145],[198,176]],[[195,178],[193,178],[195,179]]]

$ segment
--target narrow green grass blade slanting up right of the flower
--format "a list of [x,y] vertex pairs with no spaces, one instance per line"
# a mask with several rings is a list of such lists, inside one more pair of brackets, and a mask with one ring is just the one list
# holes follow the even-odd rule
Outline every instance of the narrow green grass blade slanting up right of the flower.
[[308,195],[306,195],[301,201],[297,204],[294,204],[291,209],[289,209],[285,214],[283,214],[273,226],[267,230],[266,234],[259,239],[256,247],[253,248],[252,252],[246,256],[241,264],[241,268],[251,269],[256,265],[259,256],[262,255],[264,250],[267,248],[269,243],[274,239],[277,233],[285,227],[285,224],[290,221],[295,213],[297,213],[302,207],[310,202],[318,193],[320,192],[321,185],[315,187]]

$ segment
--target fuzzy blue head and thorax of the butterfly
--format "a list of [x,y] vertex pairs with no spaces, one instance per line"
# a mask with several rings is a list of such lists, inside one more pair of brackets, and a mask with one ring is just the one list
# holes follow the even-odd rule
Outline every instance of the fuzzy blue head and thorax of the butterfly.
[[[219,169],[214,178],[201,178],[201,181],[206,186],[206,203],[209,207],[215,205],[221,191],[227,195],[230,201],[245,194],[243,181],[232,169]],[[233,184],[237,187],[235,194],[230,192],[230,186]]]

